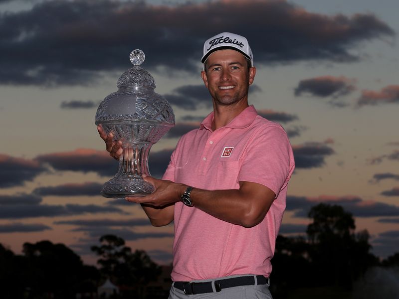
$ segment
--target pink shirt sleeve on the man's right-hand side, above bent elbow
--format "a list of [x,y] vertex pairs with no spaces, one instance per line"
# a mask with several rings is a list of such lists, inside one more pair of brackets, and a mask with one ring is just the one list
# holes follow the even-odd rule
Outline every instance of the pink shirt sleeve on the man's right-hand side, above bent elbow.
[[286,132],[278,124],[262,127],[255,133],[242,159],[238,181],[262,184],[276,197],[294,170],[292,147]]

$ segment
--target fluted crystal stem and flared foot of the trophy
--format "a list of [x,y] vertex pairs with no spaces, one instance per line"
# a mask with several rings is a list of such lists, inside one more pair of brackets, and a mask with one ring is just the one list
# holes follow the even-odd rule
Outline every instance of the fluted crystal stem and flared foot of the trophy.
[[116,175],[107,181],[101,190],[104,197],[125,198],[126,196],[146,196],[154,192],[152,184],[143,180],[142,175],[150,175],[148,154],[152,143],[124,144],[119,158]]

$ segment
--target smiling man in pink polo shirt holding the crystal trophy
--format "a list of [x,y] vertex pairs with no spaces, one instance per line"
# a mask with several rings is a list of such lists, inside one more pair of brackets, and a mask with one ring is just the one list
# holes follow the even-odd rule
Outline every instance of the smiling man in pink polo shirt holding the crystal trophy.
[[[280,125],[248,105],[256,68],[245,37],[224,32],[203,48],[213,112],[184,135],[156,190],[141,203],[154,226],[175,221],[170,299],[271,298],[270,260],[281,224],[292,149]],[[107,150],[121,143],[99,128]]]

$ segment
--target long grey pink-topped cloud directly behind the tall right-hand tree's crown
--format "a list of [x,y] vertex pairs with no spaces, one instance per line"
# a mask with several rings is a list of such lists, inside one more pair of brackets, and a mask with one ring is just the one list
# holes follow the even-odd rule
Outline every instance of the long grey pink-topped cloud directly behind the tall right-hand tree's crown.
[[295,217],[307,217],[311,207],[319,204],[341,205],[355,217],[399,216],[399,207],[376,201],[365,201],[358,196],[326,196],[305,197],[287,196],[287,211],[295,211]]

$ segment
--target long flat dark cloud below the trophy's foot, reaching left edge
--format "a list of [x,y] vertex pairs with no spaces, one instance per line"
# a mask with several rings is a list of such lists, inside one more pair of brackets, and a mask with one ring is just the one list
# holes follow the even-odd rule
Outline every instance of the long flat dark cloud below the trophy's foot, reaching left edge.
[[93,213],[120,213],[121,209],[98,205],[5,205],[0,209],[0,219],[20,219],[33,217],[72,216]]

